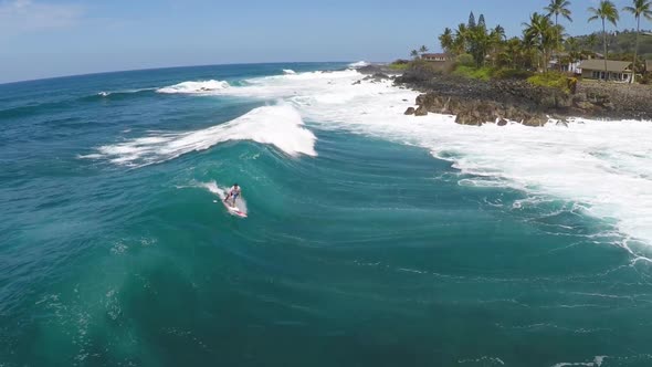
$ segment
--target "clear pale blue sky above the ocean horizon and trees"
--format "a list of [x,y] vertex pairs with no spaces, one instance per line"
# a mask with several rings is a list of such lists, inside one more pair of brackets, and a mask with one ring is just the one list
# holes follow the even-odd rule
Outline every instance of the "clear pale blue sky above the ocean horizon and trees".
[[[571,0],[570,34],[597,0]],[[631,0],[616,0],[619,8]],[[0,0],[0,83],[177,65],[390,61],[473,10],[508,35],[547,0]],[[644,22],[643,28],[652,24]],[[619,29],[634,21],[621,14]]]

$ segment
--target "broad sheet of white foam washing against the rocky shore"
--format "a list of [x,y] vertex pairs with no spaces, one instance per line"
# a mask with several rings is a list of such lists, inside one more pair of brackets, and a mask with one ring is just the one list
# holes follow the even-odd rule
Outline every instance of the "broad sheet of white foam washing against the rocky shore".
[[[595,217],[652,243],[652,123],[576,119],[548,124],[463,126],[453,116],[404,116],[418,93],[391,81],[362,82],[354,71],[298,73],[248,81],[215,94],[282,98],[323,128],[348,129],[420,146],[464,174],[537,195],[586,203]],[[497,181],[496,181],[497,180]],[[464,181],[483,186],[477,179]]]

